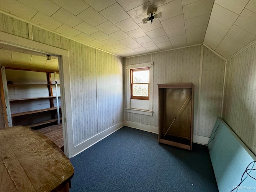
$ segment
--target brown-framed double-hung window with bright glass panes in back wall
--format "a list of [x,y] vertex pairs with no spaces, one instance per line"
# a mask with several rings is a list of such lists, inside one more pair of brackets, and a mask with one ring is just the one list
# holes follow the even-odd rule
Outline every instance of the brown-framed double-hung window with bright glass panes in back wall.
[[149,100],[149,67],[131,69],[131,99]]

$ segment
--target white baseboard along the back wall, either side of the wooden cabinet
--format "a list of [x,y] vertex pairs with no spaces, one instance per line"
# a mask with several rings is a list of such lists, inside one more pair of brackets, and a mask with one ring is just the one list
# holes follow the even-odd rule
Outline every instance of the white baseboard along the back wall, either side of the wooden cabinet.
[[[158,134],[158,127],[156,127],[156,126],[146,125],[146,124],[142,124],[142,123],[136,123],[136,122],[132,122],[132,121],[125,121],[124,125],[131,127],[131,128]],[[195,134],[193,135],[194,143],[207,145],[209,139],[210,139],[209,137],[204,137],[204,136],[195,135]]]

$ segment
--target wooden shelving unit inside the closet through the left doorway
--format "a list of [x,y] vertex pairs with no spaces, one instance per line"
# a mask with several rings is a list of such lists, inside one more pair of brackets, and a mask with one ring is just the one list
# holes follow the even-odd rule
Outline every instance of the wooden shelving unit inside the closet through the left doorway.
[[[56,81],[56,72],[45,72],[45,71],[40,71],[40,72],[45,72],[46,73],[46,78],[47,78],[47,84],[44,83],[24,83],[24,84],[20,84],[20,83],[15,83],[15,82],[9,82],[6,80],[6,73],[5,73],[5,69],[13,69],[13,70],[21,70],[21,69],[14,69],[14,68],[4,68],[1,67],[1,75],[2,75],[2,86],[1,86],[1,93],[4,93],[4,99],[2,98],[2,103],[3,106],[5,106],[6,108],[6,117],[5,117],[5,124],[6,126],[8,125],[8,127],[14,126],[13,124],[13,120],[16,117],[21,117],[25,118],[28,117],[29,115],[32,114],[38,114],[38,116],[40,116],[40,113],[42,112],[51,112],[51,119],[48,120],[43,120],[43,121],[38,121],[36,123],[32,123],[32,124],[26,124],[25,126],[30,127],[30,128],[35,128],[37,126],[43,126],[46,124],[50,124],[53,122],[57,122],[57,124],[60,124],[60,121],[62,120],[62,118],[60,117],[60,109],[61,106],[59,106],[59,98],[60,96],[58,96],[58,83]],[[52,75],[54,75],[54,83],[52,83]],[[29,97],[29,98],[15,98],[15,99],[9,99],[8,96],[8,86],[13,85],[13,86],[22,86],[23,88],[29,88],[31,86],[36,86],[38,88],[42,87],[42,86],[47,86],[48,91],[49,91],[49,96],[43,96],[43,97]],[[53,89],[55,89],[56,92],[56,96],[53,95]],[[49,108],[41,108],[38,110],[29,110],[29,111],[25,111],[25,112],[18,112],[18,113],[11,113],[11,106],[14,102],[26,102],[29,100],[45,100],[48,99],[50,102],[50,107]],[[56,99],[56,106],[54,106],[54,99]],[[4,112],[5,113],[5,112]],[[57,118],[55,118],[57,114]],[[40,118],[39,118],[40,119]],[[6,122],[7,121],[7,122]],[[17,124],[17,122],[16,122]]]

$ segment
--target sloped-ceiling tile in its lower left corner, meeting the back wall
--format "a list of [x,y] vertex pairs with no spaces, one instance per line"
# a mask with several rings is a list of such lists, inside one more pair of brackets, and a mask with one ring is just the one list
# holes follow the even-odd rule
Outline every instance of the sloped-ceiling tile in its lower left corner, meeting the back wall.
[[206,30],[206,34],[204,36],[204,44],[208,45],[210,48],[215,50],[224,36],[216,33],[215,30],[208,29]]

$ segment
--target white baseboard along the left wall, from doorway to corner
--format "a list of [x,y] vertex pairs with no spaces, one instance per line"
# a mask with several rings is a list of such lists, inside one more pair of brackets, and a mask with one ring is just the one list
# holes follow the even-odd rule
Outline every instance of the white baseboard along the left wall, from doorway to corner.
[[117,131],[118,129],[122,128],[123,126],[124,126],[124,121],[120,122],[120,123],[118,123],[118,124],[116,124],[116,125],[114,125],[114,126],[112,126],[110,128],[108,128],[107,130],[104,130],[103,132],[95,135],[94,137],[92,137],[92,138],[82,142],[81,144],[75,146],[74,147],[74,156],[76,156],[80,152],[83,152],[84,150],[86,150],[90,146],[96,144],[100,140],[106,138],[107,136],[109,136],[110,134],[114,133],[115,131]]

